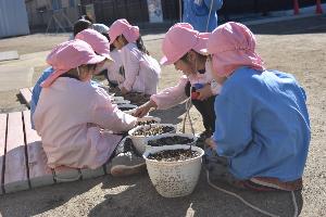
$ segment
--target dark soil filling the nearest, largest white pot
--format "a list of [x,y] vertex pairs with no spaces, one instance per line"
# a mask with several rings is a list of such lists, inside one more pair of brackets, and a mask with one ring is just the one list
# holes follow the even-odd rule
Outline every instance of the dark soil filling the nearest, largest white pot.
[[149,159],[156,159],[158,162],[178,162],[178,161],[186,161],[190,158],[195,158],[199,156],[199,153],[196,151],[184,150],[165,150],[158,152],[155,154],[150,154],[148,156]]

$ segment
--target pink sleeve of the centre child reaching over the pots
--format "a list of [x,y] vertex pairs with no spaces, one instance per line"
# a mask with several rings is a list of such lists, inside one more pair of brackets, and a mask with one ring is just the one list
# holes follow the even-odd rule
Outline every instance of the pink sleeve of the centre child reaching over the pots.
[[185,87],[188,80],[186,76],[183,76],[176,86],[153,94],[151,100],[155,102],[158,110],[167,110],[187,100]]

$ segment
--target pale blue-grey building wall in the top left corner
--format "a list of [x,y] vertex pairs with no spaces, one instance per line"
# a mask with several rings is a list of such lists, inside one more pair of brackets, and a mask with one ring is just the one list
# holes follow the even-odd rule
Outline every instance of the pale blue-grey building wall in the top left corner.
[[0,0],[0,38],[28,34],[25,2],[22,0]]

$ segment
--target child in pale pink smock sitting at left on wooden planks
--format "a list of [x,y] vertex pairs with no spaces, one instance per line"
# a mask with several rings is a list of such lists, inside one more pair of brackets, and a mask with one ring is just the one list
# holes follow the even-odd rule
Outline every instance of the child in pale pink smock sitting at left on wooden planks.
[[[41,84],[33,118],[51,168],[102,166],[121,140],[106,130],[126,131],[136,125],[137,118],[111,104],[103,89],[90,85],[103,61],[104,56],[78,39],[59,44],[47,58],[53,73]],[[111,169],[113,175],[136,173],[143,164],[124,169],[116,166]]]

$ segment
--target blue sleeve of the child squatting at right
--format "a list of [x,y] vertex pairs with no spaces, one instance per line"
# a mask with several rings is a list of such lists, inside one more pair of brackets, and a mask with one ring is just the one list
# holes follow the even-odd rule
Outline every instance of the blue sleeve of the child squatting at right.
[[217,144],[218,155],[234,157],[249,145],[252,140],[251,104],[243,95],[217,97],[213,138]]

